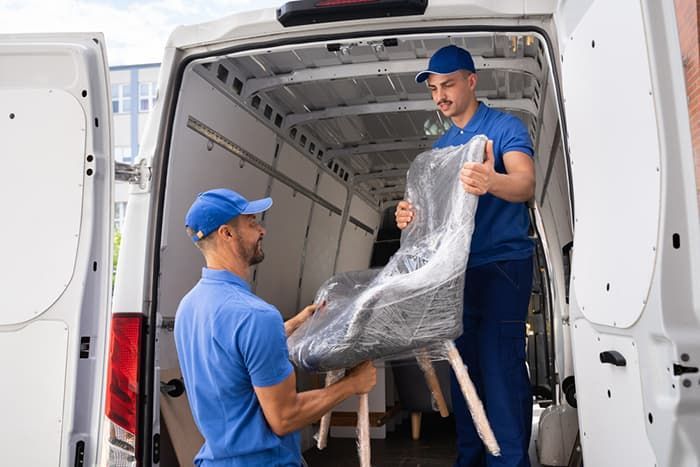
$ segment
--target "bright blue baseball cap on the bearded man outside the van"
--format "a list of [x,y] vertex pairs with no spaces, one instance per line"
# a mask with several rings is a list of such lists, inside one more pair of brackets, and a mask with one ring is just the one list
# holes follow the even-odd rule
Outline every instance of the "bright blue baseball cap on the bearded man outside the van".
[[197,195],[185,215],[185,227],[194,231],[197,242],[241,214],[258,214],[272,206],[272,198],[248,201],[227,188],[217,188]]

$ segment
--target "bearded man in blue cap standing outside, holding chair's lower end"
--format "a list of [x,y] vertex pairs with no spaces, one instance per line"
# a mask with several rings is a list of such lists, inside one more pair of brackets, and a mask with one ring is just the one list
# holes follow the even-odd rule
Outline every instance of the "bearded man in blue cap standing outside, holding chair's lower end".
[[200,193],[185,217],[206,260],[202,278],[182,299],[175,343],[187,399],[204,445],[199,466],[300,466],[297,430],[376,382],[371,362],[338,383],[297,393],[286,338],[314,311],[282,323],[277,309],[250,290],[251,266],[265,254],[256,214],[272,199],[248,201],[216,189]]

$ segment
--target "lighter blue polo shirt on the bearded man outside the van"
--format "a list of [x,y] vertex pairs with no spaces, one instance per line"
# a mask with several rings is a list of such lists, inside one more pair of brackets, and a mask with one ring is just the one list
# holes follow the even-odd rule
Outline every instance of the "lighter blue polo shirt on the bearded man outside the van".
[[293,371],[282,317],[246,281],[204,268],[175,316],[175,344],[187,399],[204,445],[198,466],[299,466],[299,434],[277,436],[253,386]]

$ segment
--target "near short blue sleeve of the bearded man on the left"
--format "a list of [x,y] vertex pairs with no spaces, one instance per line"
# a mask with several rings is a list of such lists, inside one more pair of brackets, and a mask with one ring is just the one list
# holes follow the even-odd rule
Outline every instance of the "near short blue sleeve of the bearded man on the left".
[[253,386],[274,386],[293,371],[282,316],[275,309],[252,309],[240,321],[233,344]]

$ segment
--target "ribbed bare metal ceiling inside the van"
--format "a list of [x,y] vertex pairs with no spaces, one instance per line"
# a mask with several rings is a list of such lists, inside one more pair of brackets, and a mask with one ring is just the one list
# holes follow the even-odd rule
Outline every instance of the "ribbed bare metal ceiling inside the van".
[[382,208],[449,120],[415,74],[444,45],[467,48],[477,97],[519,117],[533,142],[549,74],[534,36],[483,33],[312,44],[202,60],[194,70],[281,138]]

